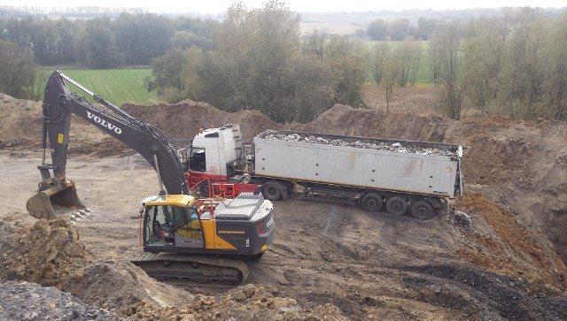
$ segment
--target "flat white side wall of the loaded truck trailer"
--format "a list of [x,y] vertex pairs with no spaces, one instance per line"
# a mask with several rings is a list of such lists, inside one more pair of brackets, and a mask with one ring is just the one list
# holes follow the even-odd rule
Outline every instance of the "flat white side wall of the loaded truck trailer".
[[457,160],[447,156],[254,139],[256,175],[454,197]]

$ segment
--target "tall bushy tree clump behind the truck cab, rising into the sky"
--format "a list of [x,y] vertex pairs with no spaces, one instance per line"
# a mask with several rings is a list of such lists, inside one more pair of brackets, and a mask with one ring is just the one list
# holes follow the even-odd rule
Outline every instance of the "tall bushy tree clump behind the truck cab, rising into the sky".
[[146,85],[169,102],[259,110],[279,122],[311,120],[334,103],[360,105],[366,71],[355,42],[321,31],[302,39],[299,24],[279,1],[252,11],[233,4],[215,50],[169,51],[153,61]]

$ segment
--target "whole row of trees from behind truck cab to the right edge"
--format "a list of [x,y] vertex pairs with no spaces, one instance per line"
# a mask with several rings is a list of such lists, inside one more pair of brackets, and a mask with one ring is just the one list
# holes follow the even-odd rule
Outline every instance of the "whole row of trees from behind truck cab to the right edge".
[[254,11],[233,5],[215,50],[168,52],[154,60],[146,85],[170,102],[191,98],[304,122],[334,103],[365,107],[368,80],[384,87],[388,111],[392,92],[413,85],[425,61],[450,118],[461,118],[468,98],[485,115],[567,120],[567,14],[526,7],[477,20],[420,20],[428,42],[365,46],[319,30],[299,37],[299,16],[278,1]]

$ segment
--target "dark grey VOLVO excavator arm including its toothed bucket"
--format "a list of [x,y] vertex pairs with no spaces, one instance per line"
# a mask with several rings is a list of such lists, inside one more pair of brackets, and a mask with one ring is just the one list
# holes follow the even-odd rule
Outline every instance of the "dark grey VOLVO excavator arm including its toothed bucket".
[[[64,80],[82,88],[80,84],[58,71],[51,73],[45,86],[42,105],[43,164],[38,166],[43,181],[39,184],[38,195],[30,198],[27,203],[27,210],[32,216],[57,218],[58,215],[50,208],[52,203],[64,208],[85,208],[75,195],[74,183],[66,180],[67,149],[73,114],[136,150],[158,173],[160,189],[165,187],[168,194],[188,194],[183,165],[175,149],[158,129],[131,117],[101,96],[82,88],[97,102],[104,104],[106,109],[89,103],[83,96],[72,94]],[[51,151],[52,164],[45,162],[47,148]],[[52,177],[50,171],[53,172]]]

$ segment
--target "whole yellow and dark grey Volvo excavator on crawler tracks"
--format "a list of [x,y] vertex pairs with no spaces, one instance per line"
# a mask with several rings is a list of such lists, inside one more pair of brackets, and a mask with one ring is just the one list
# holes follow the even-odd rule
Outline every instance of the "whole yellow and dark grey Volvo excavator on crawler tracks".
[[[65,80],[104,107],[71,93]],[[274,241],[273,206],[260,193],[244,193],[230,202],[189,195],[183,177],[188,164],[157,128],[131,117],[65,74],[55,71],[50,75],[42,111],[43,159],[38,166],[42,180],[27,201],[31,216],[81,220],[92,215],[79,199],[74,181],[66,178],[74,114],[135,149],[158,174],[159,193],[144,198],[140,210],[144,253],[128,257],[150,276],[242,283],[248,268],[241,258],[261,256]],[[51,164],[46,163],[47,149]]]

